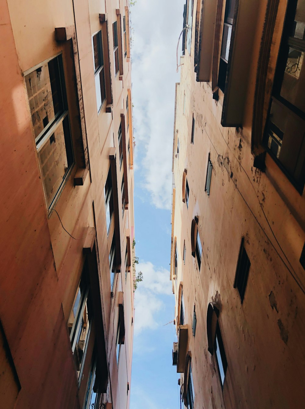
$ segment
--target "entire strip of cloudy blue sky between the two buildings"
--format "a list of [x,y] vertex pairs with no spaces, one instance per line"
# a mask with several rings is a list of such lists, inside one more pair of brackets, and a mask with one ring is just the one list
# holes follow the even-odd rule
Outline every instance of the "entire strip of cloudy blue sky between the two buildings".
[[[172,348],[170,207],[176,49],[185,0],[137,0],[130,7],[135,136],[137,271],[130,409],[180,407]],[[181,54],[181,43],[179,55]]]

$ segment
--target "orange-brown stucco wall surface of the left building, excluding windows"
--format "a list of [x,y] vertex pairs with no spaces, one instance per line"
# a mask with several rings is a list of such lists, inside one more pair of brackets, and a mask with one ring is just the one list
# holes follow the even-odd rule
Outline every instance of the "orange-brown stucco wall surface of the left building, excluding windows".
[[[128,2],[121,2],[121,14],[125,15],[126,5]],[[134,316],[134,304],[132,272],[128,274],[125,284],[124,260],[126,231],[134,232],[133,170],[128,171],[127,175],[128,209],[122,217],[119,206],[119,212],[115,215],[119,226],[117,234],[121,242],[122,270],[116,274],[114,292],[120,289],[124,293],[126,327],[119,367],[115,353],[119,307],[117,299],[111,298],[109,250],[112,237],[107,237],[104,198],[104,186],[110,167],[110,148],[114,147],[117,155],[119,154],[117,131],[122,112],[126,119],[124,99],[126,101],[128,86],[131,85],[130,63],[126,58],[123,61],[123,81],[119,81],[119,76],[114,78],[112,21],[117,18],[118,8],[117,2],[110,0],[102,6],[94,1],[70,1],[63,4],[53,1],[20,3],[9,0],[1,3],[0,33],[5,41],[0,44],[0,144],[3,155],[0,183],[0,320],[12,357],[8,368],[15,367],[20,382],[20,390],[16,396],[17,381],[11,382],[9,369],[2,373],[0,384],[2,385],[3,381],[10,385],[6,391],[7,401],[4,400],[0,404],[4,404],[6,408],[83,407],[97,321],[94,317],[83,379],[78,389],[67,320],[83,269],[83,246],[88,227],[95,227],[98,246],[101,322],[105,330],[108,361],[105,371],[110,371],[111,379],[111,391],[107,398],[109,402],[112,401],[114,408],[129,407],[129,396],[126,392],[127,382],[131,385],[131,317]],[[81,81],[84,106],[81,119],[85,121],[90,168],[83,186],[74,187],[73,178],[77,163],[74,165],[54,208],[65,229],[76,239],[65,232],[57,214],[54,211],[50,213],[47,209],[23,77],[23,72],[31,67],[58,52],[63,53],[72,140],[76,148],[76,140],[79,139],[81,130],[72,44],[56,42],[54,31],[55,27],[74,25],[74,12],[80,65],[78,81]],[[114,102],[112,112],[105,112],[104,103],[98,116],[91,36],[101,30],[99,13],[108,14]],[[131,116],[131,103],[129,112]],[[128,137],[132,141],[131,127]],[[132,149],[132,143],[130,147]],[[75,155],[77,162],[76,152]],[[127,151],[124,155],[128,160]],[[117,201],[120,204],[121,173],[118,161],[117,173]],[[125,348],[127,359],[124,356]],[[8,362],[4,349],[0,348],[0,351],[0,356]],[[123,384],[120,385],[120,382]],[[106,402],[106,394],[104,401]]]

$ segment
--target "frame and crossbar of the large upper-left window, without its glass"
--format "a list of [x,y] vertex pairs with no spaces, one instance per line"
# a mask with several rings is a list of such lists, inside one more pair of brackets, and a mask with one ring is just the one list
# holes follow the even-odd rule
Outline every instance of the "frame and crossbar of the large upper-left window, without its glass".
[[[44,128],[43,130],[35,137],[34,133],[34,139],[35,139],[35,144],[36,144],[36,151],[38,155],[38,163],[39,163],[39,169],[41,173],[41,180],[43,183],[43,190],[45,193],[45,202],[47,205],[48,209],[48,214],[51,213],[52,208],[56,201],[58,200],[58,197],[60,196],[65,183],[67,182],[72,169],[76,163],[75,161],[75,156],[74,156],[74,149],[73,149],[73,141],[72,141],[72,132],[71,132],[71,126],[70,126],[70,115],[69,115],[69,107],[68,107],[68,102],[67,102],[67,90],[66,90],[66,81],[65,81],[65,72],[64,72],[64,64],[63,64],[63,52],[59,52],[58,54],[55,54],[54,56],[47,58],[46,60],[42,61],[41,63],[35,65],[34,67],[31,67],[29,70],[26,70],[23,72],[24,79],[25,79],[25,87],[27,90],[27,76],[29,74],[33,73],[34,71],[38,73],[41,72],[41,67],[43,65],[48,65],[52,60],[57,59],[57,68],[58,68],[58,83],[59,89],[61,91],[61,110],[54,114],[54,117],[52,118],[51,121],[48,121],[47,124],[43,122]],[[40,71],[39,71],[40,69]],[[49,69],[49,67],[48,67]],[[51,82],[51,81],[50,81]],[[30,85],[31,86],[31,85]],[[52,94],[53,95],[53,94]],[[27,100],[29,103],[30,107],[30,99],[29,93],[27,90]],[[53,100],[53,98],[52,98]],[[31,109],[29,108],[30,112]],[[37,111],[35,111],[37,112]],[[47,191],[45,187],[45,182],[44,182],[44,174],[43,174],[43,164],[41,163],[39,153],[43,149],[43,147],[47,144],[48,141],[50,141],[50,145],[54,142],[51,142],[51,138],[54,138],[54,132],[61,126],[63,126],[63,135],[64,135],[64,140],[65,140],[65,154],[67,155],[67,170],[65,171],[65,174],[63,176],[63,180],[61,184],[59,185],[58,189],[54,193],[52,199],[48,201],[47,199]],[[33,127],[34,130],[34,127]]]

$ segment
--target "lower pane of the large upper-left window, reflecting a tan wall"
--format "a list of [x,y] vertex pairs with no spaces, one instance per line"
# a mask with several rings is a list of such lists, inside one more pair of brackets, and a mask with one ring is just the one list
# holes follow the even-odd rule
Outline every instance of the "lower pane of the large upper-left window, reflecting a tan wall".
[[[64,121],[68,121],[68,117]],[[54,130],[54,133],[38,152],[48,207],[50,207],[72,164],[70,158],[68,161],[70,155],[67,156],[66,151],[64,121]],[[67,128],[69,128],[68,124]],[[70,135],[68,139],[70,139]]]

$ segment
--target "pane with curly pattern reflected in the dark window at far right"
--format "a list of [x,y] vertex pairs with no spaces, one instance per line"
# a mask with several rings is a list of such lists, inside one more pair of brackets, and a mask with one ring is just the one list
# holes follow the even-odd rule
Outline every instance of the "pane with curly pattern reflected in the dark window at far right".
[[292,47],[287,47],[287,52],[286,68],[280,95],[305,112],[305,53]]

